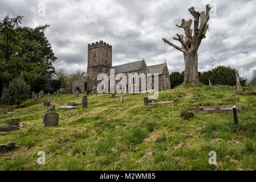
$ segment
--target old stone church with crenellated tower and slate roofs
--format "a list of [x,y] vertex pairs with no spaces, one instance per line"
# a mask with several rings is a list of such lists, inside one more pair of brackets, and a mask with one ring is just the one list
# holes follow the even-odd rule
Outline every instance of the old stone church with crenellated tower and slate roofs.
[[[170,76],[166,63],[147,66],[145,60],[132,63],[112,66],[112,46],[103,42],[88,44],[88,64],[87,64],[87,92],[92,92],[100,81],[97,81],[97,75],[106,73],[110,75],[110,69],[115,69],[115,75],[118,73],[158,73],[159,91],[170,89]],[[153,81],[153,78],[152,78]]]

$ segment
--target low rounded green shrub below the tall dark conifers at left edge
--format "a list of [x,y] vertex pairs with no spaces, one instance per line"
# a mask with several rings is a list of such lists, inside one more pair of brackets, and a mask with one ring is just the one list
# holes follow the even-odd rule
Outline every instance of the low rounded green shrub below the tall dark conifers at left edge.
[[10,82],[9,88],[5,89],[1,101],[6,105],[21,105],[22,101],[29,98],[30,86],[23,78],[15,78]]

